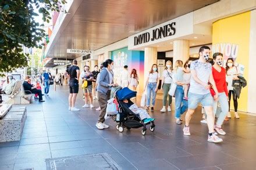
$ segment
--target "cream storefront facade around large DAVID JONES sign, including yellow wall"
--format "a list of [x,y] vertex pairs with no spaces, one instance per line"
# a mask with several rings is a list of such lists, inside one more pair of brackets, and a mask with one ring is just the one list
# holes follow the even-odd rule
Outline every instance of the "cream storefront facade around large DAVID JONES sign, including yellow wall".
[[[247,86],[239,99],[239,110],[256,113],[253,107],[256,103],[256,90],[253,88],[256,85],[256,67],[253,65],[256,62],[256,10],[252,10],[255,6],[256,1],[216,2],[95,50],[95,53],[103,52],[104,59],[113,59],[118,69],[126,63],[137,66],[134,60],[140,60],[141,79],[141,74],[146,75],[151,65],[157,64],[159,52],[165,52],[165,61],[186,62],[189,57],[198,57],[201,45],[208,45],[212,53],[222,52],[225,60],[229,57],[235,59],[237,68],[247,79]],[[141,51],[144,51],[144,57],[129,55]],[[120,63],[126,54],[127,59]],[[140,86],[143,88],[142,84]]]

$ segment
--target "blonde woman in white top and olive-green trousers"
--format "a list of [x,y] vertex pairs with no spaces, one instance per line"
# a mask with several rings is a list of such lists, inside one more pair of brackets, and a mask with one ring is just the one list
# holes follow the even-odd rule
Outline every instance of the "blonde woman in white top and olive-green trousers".
[[168,94],[170,85],[172,84],[172,62],[167,61],[165,64],[165,70],[163,71],[161,91],[163,92],[163,108],[160,110],[162,113],[166,112],[166,102],[168,100],[168,111],[172,111],[170,104],[172,104],[172,96]]

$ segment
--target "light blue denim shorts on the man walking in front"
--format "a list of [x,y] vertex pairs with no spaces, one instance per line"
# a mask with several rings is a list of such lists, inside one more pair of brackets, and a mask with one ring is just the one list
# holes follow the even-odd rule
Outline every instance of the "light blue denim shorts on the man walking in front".
[[189,108],[195,109],[198,106],[198,103],[201,103],[202,106],[214,106],[214,98],[211,93],[207,93],[205,95],[200,95],[196,93],[189,92]]

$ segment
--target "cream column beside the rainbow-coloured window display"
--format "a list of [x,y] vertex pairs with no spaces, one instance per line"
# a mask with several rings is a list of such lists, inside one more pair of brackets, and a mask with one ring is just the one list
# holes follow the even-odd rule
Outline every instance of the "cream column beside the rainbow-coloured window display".
[[[152,64],[157,64],[157,48],[156,47],[146,47],[144,50],[144,81],[143,88],[145,85],[145,80],[151,70]],[[140,86],[141,87],[141,86]]]

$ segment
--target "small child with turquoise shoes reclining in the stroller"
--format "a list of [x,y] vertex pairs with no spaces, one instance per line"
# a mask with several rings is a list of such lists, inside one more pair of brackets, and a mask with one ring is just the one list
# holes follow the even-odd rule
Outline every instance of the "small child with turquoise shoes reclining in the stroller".
[[155,120],[154,118],[151,118],[150,115],[148,115],[146,110],[139,108],[136,104],[129,103],[127,99],[123,100],[123,103],[125,103],[126,107],[133,111],[133,113],[138,114],[144,124]]

